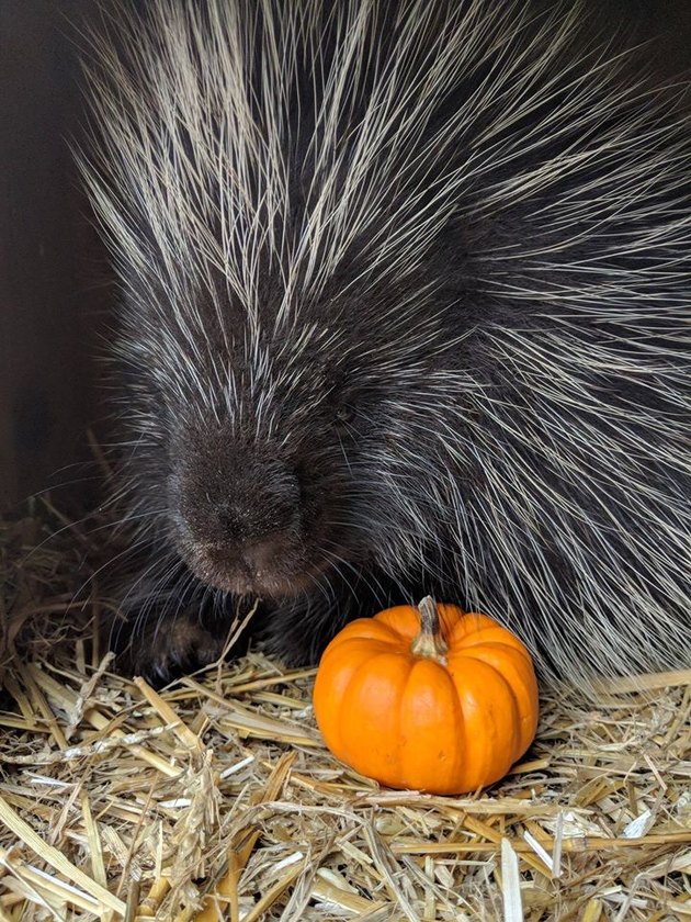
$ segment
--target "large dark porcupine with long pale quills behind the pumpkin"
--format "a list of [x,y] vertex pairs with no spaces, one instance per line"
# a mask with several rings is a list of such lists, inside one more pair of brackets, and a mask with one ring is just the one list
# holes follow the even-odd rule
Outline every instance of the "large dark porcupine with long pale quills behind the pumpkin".
[[95,43],[131,668],[240,598],[303,663],[427,593],[548,677],[689,662],[690,123],[582,14],[152,0]]

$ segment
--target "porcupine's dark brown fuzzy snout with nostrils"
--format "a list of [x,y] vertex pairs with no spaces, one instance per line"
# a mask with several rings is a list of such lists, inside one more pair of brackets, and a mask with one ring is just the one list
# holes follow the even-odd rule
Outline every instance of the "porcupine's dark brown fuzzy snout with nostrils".
[[177,541],[190,569],[240,595],[292,594],[304,569],[297,474],[267,454],[219,446],[172,477]]

